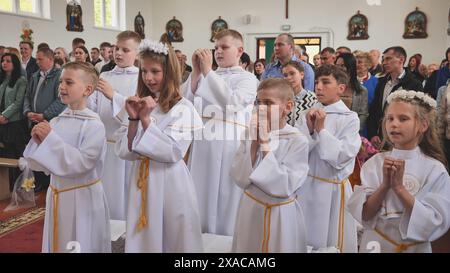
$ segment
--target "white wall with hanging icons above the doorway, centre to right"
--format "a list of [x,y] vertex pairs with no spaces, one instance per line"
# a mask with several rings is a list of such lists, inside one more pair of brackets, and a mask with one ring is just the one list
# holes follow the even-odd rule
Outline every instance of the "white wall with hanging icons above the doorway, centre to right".
[[[165,24],[173,16],[183,23],[184,42],[175,47],[189,55],[199,47],[212,48],[209,42],[211,23],[222,16],[230,28],[239,30],[246,37],[246,51],[256,56],[256,36],[281,33],[281,25],[292,25],[291,33],[310,32],[315,27],[332,29],[334,42],[328,43],[325,35],[323,46],[349,46],[352,50],[384,50],[393,45],[405,47],[408,55],[422,53],[424,62],[440,62],[449,46],[447,37],[448,0],[379,0],[380,6],[369,6],[374,0],[290,0],[290,19],[285,19],[284,1],[279,0],[153,0],[153,33],[159,38]],[[419,7],[428,17],[427,39],[403,39],[404,20],[408,13]],[[369,40],[348,41],[347,24],[358,10],[369,20]],[[252,15],[252,23],[244,25],[243,16]],[[312,32],[317,32],[313,30]],[[297,34],[296,34],[297,35]],[[270,36],[270,35],[269,35]],[[276,36],[276,35],[273,35]]]

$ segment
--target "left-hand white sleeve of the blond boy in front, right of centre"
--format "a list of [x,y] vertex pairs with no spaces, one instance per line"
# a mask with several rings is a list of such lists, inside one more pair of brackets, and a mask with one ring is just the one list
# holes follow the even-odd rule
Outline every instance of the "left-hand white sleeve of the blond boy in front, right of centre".
[[251,140],[242,140],[233,163],[231,164],[230,175],[235,183],[242,189],[247,189],[250,186],[250,175],[253,172],[252,158],[251,158]]

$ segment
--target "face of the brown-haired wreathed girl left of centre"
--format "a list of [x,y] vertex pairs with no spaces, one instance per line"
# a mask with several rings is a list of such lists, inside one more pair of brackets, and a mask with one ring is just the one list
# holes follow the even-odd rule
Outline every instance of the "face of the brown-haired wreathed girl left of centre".
[[164,69],[159,62],[143,59],[141,62],[142,79],[148,89],[154,94],[161,92],[164,85]]

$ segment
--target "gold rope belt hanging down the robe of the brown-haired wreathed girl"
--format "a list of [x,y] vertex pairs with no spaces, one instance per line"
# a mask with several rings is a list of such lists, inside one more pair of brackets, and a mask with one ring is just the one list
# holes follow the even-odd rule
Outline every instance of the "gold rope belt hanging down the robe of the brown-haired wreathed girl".
[[150,158],[140,158],[141,164],[139,166],[139,177],[137,181],[137,187],[141,190],[141,209],[139,214],[139,220],[137,223],[137,232],[141,231],[147,226],[147,187],[148,178],[150,176]]

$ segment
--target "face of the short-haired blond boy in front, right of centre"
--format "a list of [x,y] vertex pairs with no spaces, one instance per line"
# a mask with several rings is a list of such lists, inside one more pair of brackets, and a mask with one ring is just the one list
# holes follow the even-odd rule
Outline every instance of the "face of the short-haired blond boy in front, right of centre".
[[277,125],[285,122],[287,115],[292,111],[293,102],[283,99],[277,88],[263,89],[258,92],[256,103],[259,107],[267,107],[267,121],[269,128],[275,129],[273,123]]

